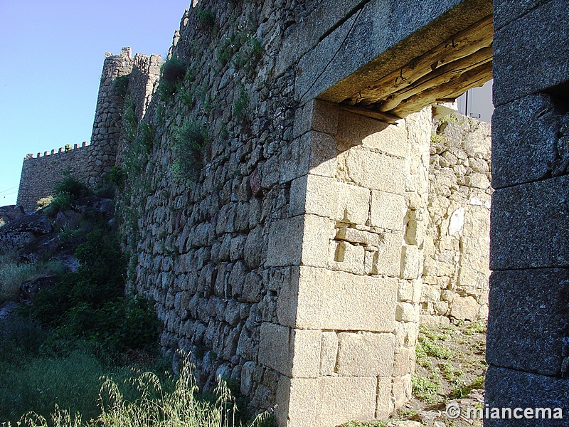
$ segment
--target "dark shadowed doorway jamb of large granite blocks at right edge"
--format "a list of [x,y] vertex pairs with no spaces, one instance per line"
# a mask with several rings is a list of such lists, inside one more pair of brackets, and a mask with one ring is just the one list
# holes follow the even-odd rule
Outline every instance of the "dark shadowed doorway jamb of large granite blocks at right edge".
[[[495,0],[494,8],[486,404],[563,408],[566,418],[569,40],[560,19],[569,4]],[[542,419],[519,425],[566,423]]]

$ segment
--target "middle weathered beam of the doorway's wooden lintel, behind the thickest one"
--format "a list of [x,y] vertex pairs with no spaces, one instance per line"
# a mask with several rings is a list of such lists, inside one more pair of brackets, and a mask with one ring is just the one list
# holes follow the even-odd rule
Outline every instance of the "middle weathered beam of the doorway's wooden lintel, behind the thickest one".
[[413,85],[390,95],[387,100],[381,103],[379,110],[382,112],[393,110],[403,100],[422,93],[427,89],[436,88],[437,86],[449,83],[467,71],[477,68],[480,65],[492,60],[492,48],[482,48],[470,56],[455,60],[452,63],[437,68],[432,73],[428,73],[418,79]]

